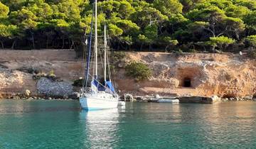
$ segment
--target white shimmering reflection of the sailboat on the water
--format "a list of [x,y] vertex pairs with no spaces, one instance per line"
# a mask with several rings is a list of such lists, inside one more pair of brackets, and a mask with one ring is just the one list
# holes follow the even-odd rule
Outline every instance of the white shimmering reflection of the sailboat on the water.
[[[85,121],[85,143],[90,148],[113,148],[118,140],[117,131],[119,123],[118,109],[80,112],[80,120]],[[87,146],[85,145],[85,146]]]

